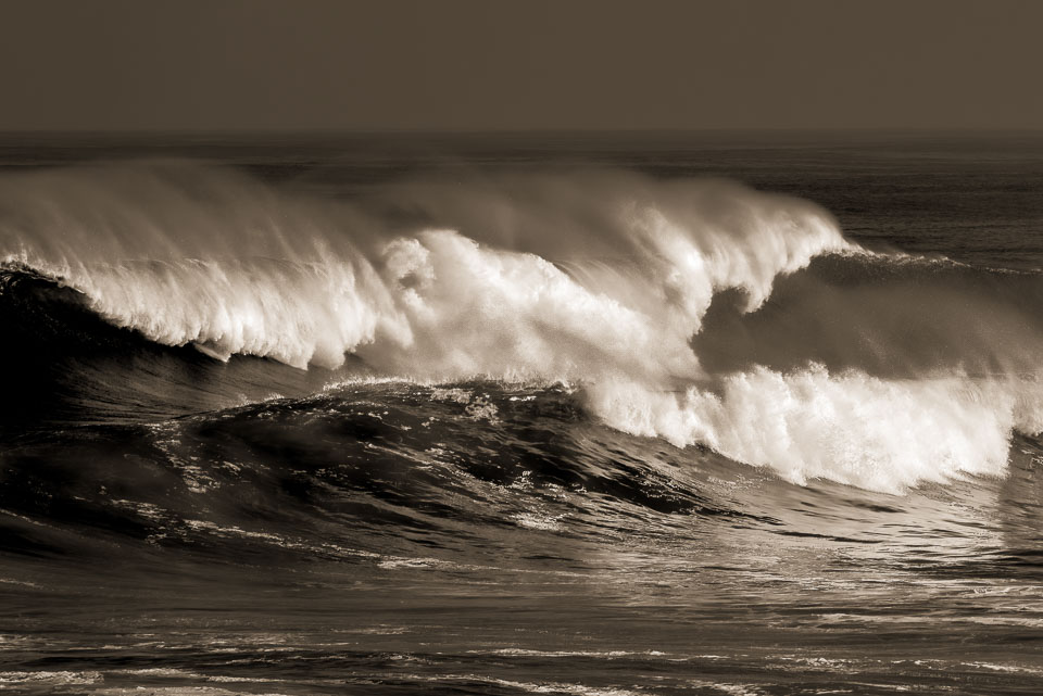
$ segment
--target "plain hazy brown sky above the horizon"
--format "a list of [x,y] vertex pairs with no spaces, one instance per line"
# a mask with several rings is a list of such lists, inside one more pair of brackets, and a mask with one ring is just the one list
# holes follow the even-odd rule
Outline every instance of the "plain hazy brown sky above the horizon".
[[0,129],[1043,128],[1043,1],[4,0]]

